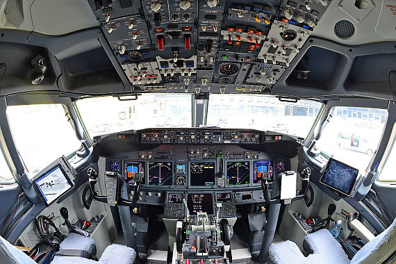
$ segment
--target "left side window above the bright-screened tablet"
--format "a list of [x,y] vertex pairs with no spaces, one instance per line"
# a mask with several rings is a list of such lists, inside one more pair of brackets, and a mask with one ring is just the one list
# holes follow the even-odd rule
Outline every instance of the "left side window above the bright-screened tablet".
[[31,178],[59,156],[69,156],[81,146],[62,104],[8,106],[7,115]]

